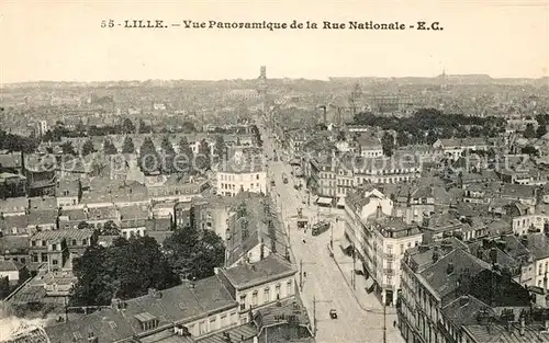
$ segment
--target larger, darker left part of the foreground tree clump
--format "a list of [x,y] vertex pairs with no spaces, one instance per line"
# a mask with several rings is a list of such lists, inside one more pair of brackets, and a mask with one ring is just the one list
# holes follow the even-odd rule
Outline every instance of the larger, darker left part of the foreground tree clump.
[[180,283],[150,237],[117,239],[109,248],[90,247],[75,261],[74,273],[78,281],[71,302],[77,306],[104,306],[114,297],[135,298],[148,288],[166,289]]

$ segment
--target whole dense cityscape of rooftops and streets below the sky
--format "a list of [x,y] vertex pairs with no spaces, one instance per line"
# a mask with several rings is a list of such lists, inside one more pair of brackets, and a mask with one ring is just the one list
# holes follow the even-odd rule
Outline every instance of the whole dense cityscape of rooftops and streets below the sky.
[[21,82],[0,342],[549,343],[549,78]]

